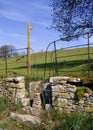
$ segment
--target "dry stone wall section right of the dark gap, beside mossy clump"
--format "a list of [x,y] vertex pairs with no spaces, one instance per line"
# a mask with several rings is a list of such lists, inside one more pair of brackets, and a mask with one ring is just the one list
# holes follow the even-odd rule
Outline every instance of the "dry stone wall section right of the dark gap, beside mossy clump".
[[54,108],[63,112],[73,111],[93,112],[93,92],[92,90],[84,93],[79,101],[76,99],[77,87],[68,84],[80,84],[80,79],[69,77],[51,77],[52,103]]

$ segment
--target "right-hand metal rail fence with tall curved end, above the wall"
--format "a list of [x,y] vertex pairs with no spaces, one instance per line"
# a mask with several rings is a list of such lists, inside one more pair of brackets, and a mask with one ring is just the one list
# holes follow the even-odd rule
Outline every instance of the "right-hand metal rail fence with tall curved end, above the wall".
[[[44,78],[49,73],[49,77],[61,75],[92,79],[93,43],[56,49],[57,42],[58,40],[50,43],[46,49]],[[54,46],[54,51],[51,51],[49,63],[50,46]]]

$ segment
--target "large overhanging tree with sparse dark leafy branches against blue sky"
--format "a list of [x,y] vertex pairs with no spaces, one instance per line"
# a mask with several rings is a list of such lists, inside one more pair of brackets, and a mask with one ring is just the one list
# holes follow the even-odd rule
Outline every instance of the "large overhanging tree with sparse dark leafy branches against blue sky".
[[64,40],[93,35],[93,0],[53,0],[52,27]]

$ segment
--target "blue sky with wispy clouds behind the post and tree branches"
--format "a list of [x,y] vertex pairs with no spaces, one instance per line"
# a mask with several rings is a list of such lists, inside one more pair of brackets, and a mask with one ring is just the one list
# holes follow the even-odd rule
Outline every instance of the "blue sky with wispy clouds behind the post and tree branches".
[[[52,0],[0,0],[0,47],[13,45],[15,48],[27,47],[27,24],[32,25],[30,31],[31,48],[35,52],[45,51],[48,44],[59,39],[59,33],[50,29],[52,25]],[[91,42],[93,39],[91,39]],[[87,39],[71,41],[87,44]],[[59,48],[67,42],[59,42]]]

